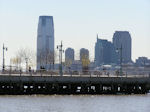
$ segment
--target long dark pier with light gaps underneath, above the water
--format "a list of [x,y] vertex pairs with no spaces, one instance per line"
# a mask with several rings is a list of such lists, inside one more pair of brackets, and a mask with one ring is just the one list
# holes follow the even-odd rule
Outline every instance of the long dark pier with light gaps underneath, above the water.
[[150,77],[0,75],[0,94],[146,94]]

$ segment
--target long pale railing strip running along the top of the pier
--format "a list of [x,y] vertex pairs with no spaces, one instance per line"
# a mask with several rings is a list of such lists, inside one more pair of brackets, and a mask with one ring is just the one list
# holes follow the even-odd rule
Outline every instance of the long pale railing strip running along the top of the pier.
[[[25,70],[5,70],[0,71],[0,75],[7,75],[7,76],[61,76],[59,74],[59,70],[38,70],[38,71],[25,71]],[[150,74],[127,74],[127,72],[123,72],[122,75],[116,73],[116,71],[96,71],[96,70],[89,70],[89,71],[64,71],[63,77],[150,77]]]

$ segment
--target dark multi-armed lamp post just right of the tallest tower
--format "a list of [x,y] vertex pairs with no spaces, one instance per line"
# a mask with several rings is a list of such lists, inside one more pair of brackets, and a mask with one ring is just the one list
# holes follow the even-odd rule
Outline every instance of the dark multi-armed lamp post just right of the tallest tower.
[[62,72],[62,53],[64,52],[64,50],[62,50],[62,41],[61,41],[61,45],[57,45],[57,49],[59,50],[59,74],[60,76],[63,76],[63,72]]

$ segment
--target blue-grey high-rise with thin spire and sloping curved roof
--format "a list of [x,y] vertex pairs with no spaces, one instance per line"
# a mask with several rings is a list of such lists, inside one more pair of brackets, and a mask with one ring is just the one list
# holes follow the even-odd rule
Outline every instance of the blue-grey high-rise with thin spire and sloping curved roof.
[[117,54],[114,45],[104,39],[99,39],[95,43],[95,66],[117,63]]

